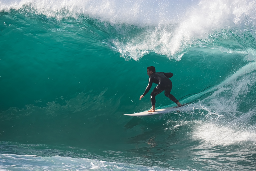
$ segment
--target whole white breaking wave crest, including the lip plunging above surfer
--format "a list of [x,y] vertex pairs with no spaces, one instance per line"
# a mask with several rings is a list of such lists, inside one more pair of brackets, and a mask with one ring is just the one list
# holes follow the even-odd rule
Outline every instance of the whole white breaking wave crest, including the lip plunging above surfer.
[[[256,2],[253,1],[62,1],[22,0],[0,2],[0,11],[12,9],[63,18],[90,18],[108,30],[112,49],[121,57],[139,60],[149,52],[181,60],[190,47],[205,46],[229,49],[232,42],[222,45],[226,39],[244,35],[244,30],[253,32],[256,23]],[[82,16],[82,17],[81,17]],[[111,29],[113,28],[113,29]],[[139,28],[141,31],[136,32]],[[222,33],[223,29],[226,33]],[[111,31],[110,31],[111,30]],[[235,35],[228,37],[229,31]],[[129,33],[129,34],[127,34]],[[216,34],[220,34],[220,38]],[[242,39],[243,37],[241,37]],[[218,39],[223,43],[218,43]],[[251,44],[255,44],[252,39]],[[236,42],[241,46],[241,42]],[[111,45],[110,45],[111,46]],[[244,44],[241,48],[247,48]],[[250,47],[249,47],[250,48]],[[242,51],[244,50],[242,49]]]

